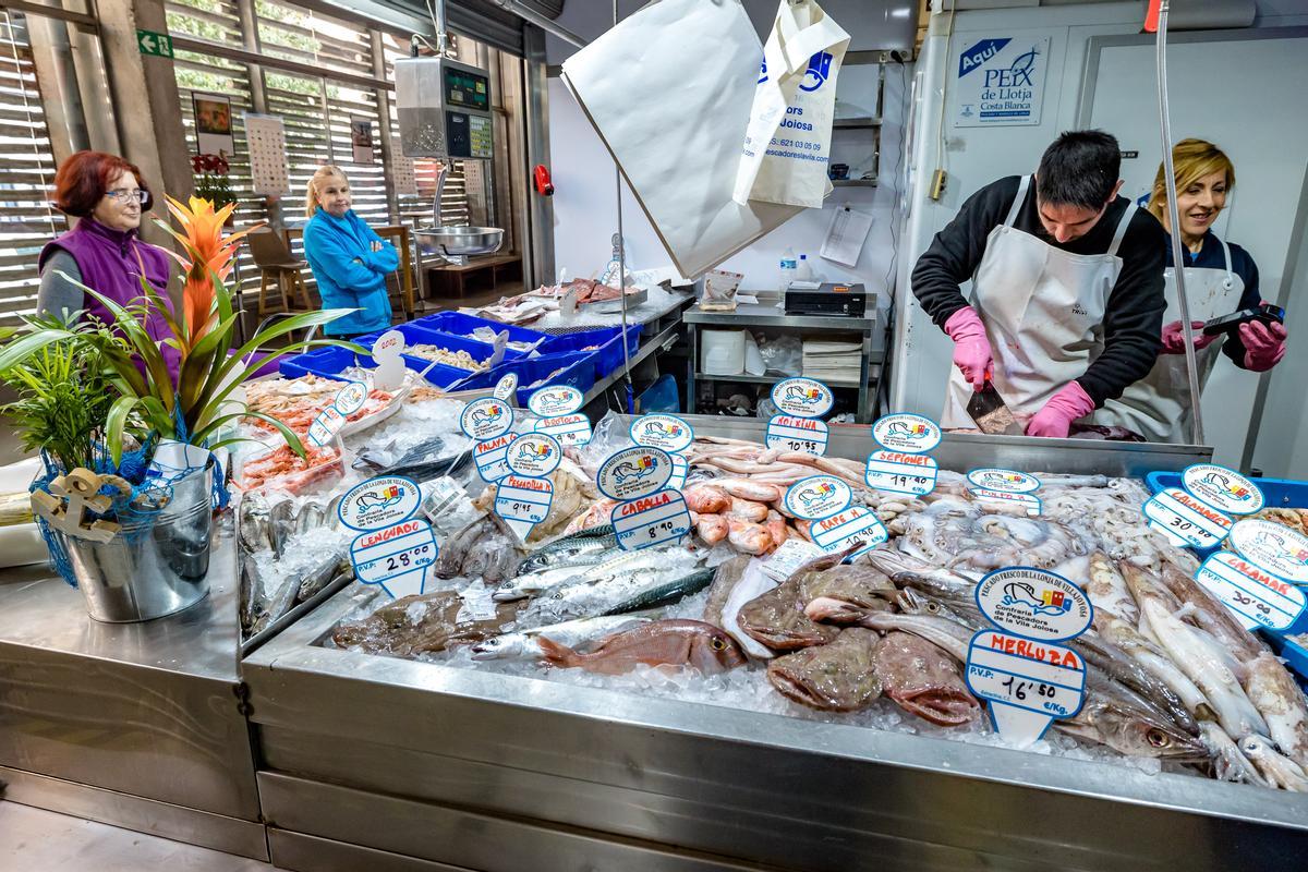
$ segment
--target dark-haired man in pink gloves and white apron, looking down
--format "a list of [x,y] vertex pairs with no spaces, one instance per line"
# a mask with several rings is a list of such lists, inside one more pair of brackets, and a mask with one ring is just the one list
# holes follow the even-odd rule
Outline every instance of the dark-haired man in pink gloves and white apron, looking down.
[[977,191],[918,259],[913,294],[955,343],[942,426],[976,428],[968,400],[993,382],[1027,435],[1065,438],[1154,366],[1165,237],[1117,196],[1120,169],[1108,133],[1063,133],[1035,176]]

